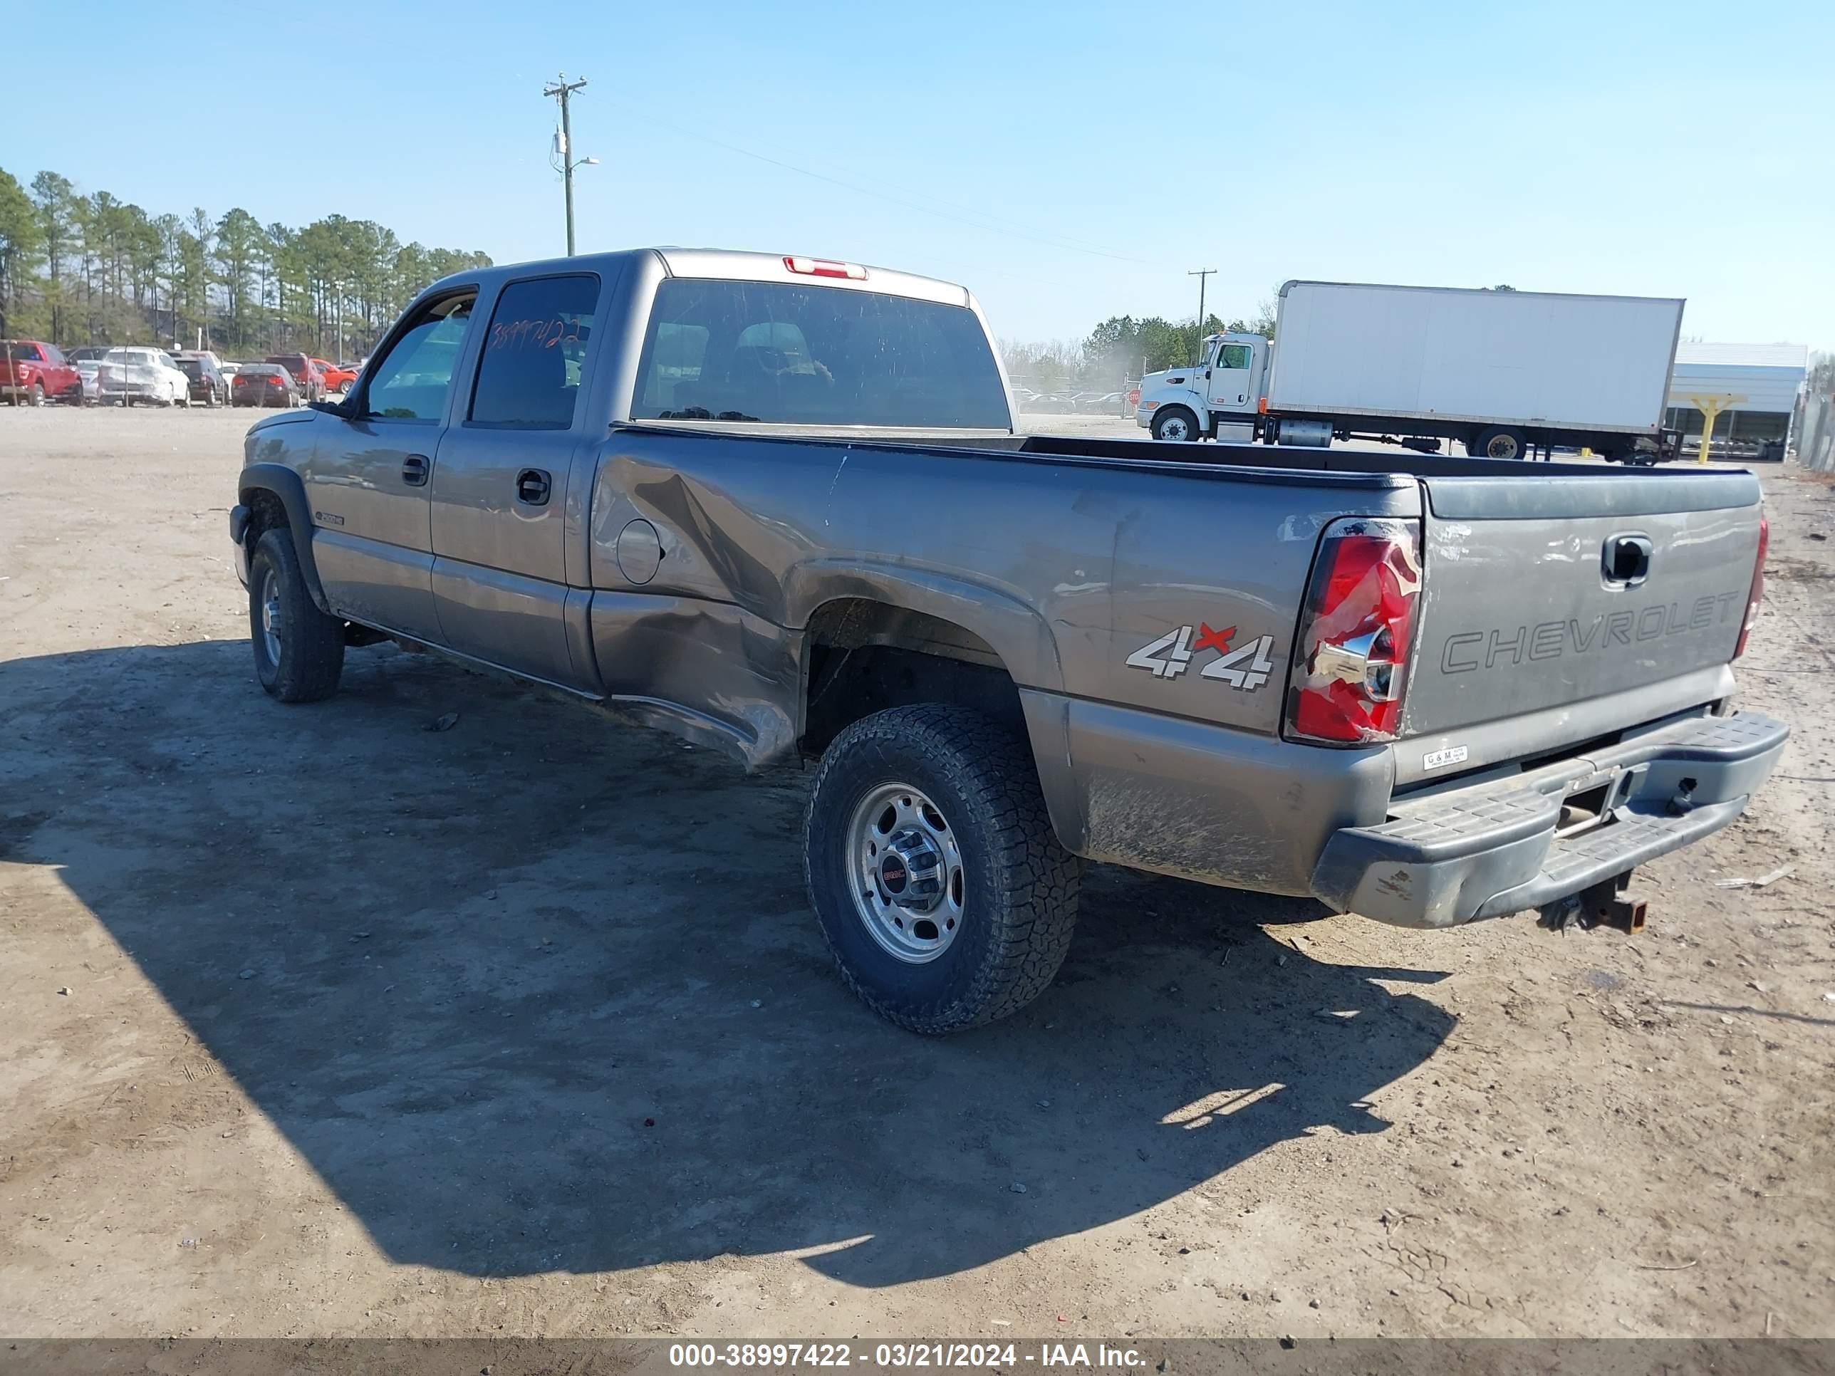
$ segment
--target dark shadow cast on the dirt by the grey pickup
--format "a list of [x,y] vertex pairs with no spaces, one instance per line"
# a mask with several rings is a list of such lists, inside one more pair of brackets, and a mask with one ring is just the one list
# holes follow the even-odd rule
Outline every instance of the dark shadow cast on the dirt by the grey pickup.
[[1380,983],[1439,974],[1305,954],[1312,904],[1097,868],[1031,1009],[901,1033],[809,917],[802,771],[431,655],[305,708],[242,642],[15,660],[0,710],[0,859],[61,866],[396,1262],[949,1275],[1380,1132],[1453,1024]]

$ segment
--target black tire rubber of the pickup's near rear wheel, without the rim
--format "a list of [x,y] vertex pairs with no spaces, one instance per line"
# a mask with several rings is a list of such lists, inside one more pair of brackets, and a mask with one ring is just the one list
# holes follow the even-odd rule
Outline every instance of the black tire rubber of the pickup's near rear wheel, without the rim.
[[[936,804],[962,857],[962,930],[923,963],[890,954],[853,893],[853,818],[890,783]],[[927,703],[862,717],[828,747],[804,815],[804,879],[842,982],[888,1022],[938,1037],[1044,993],[1070,950],[1081,864],[1051,831],[1026,741]]]

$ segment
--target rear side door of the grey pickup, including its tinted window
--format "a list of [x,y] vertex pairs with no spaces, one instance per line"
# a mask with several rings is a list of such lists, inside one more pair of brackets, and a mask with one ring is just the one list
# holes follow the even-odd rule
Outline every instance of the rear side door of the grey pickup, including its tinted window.
[[433,468],[433,602],[446,644],[569,688],[598,677],[574,662],[565,620],[569,483],[578,457],[589,490],[598,453],[582,415],[598,297],[589,272],[505,283]]

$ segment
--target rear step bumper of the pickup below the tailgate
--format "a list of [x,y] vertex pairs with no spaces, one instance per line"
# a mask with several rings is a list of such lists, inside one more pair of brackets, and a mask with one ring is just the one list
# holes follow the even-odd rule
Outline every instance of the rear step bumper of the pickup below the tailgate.
[[[1330,837],[1312,892],[1400,927],[1540,908],[1719,831],[1789,734],[1756,712],[1688,717],[1527,780],[1404,798],[1382,826]],[[1604,798],[1604,820],[1558,835],[1563,804],[1587,794]]]

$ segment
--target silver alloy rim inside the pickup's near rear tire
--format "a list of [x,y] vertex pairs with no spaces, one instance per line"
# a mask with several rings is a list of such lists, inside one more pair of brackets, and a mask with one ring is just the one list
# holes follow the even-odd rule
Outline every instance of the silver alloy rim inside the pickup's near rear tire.
[[923,965],[962,932],[962,849],[941,809],[908,783],[868,793],[848,824],[853,910],[881,949]]

